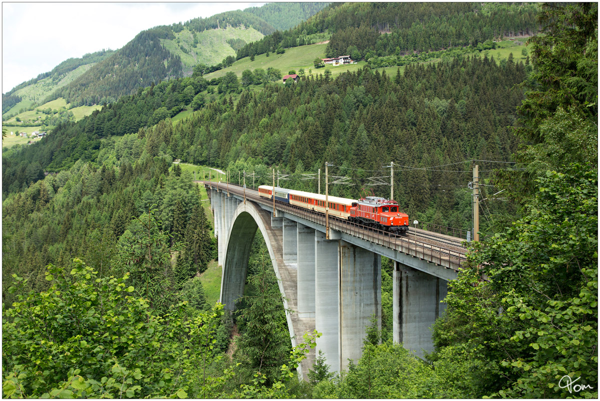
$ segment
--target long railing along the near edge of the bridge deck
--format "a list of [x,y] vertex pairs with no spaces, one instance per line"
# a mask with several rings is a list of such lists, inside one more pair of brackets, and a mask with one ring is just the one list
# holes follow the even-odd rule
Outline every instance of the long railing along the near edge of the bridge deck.
[[[213,183],[213,185],[215,188],[218,187],[218,189],[221,189],[221,191],[227,191],[227,186],[223,183],[219,183],[218,185]],[[229,191],[237,195],[243,195],[244,189],[241,186],[230,183]],[[263,204],[267,207],[273,207],[272,200],[253,194],[248,188],[246,188],[245,198],[247,200]],[[324,213],[315,212],[313,210],[304,209],[302,207],[286,203],[277,203],[275,207],[278,210],[290,213],[291,215],[307,219],[308,221],[316,222],[317,224],[323,226],[326,225]],[[446,248],[440,245],[433,245],[431,243],[410,239],[397,234],[391,234],[383,230],[378,230],[377,228],[367,227],[362,224],[356,224],[335,218],[333,216],[329,216],[329,227],[357,238],[376,243],[377,245],[386,246],[389,249],[400,251],[404,254],[412,255],[414,257],[418,257],[456,271],[458,271],[458,269],[460,269],[460,267],[466,261],[465,255],[461,252],[458,252],[456,249]]]

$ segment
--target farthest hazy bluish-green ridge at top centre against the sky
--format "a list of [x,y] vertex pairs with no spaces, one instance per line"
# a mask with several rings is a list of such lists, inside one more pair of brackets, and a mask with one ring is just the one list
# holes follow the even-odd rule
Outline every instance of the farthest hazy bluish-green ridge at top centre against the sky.
[[[274,29],[285,31],[304,22],[328,4],[327,2],[267,3],[262,7],[245,8],[244,12],[262,18]],[[267,35],[265,32],[263,33]]]

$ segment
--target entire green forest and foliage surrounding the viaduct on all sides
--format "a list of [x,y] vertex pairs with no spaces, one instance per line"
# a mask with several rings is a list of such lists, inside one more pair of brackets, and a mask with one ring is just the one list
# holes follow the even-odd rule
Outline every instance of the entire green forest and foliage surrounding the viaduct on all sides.
[[[160,34],[146,31],[136,38],[149,46],[145,62],[163,70],[142,88],[117,97],[89,76],[65,87],[65,97],[106,104],[3,149],[3,396],[597,399],[598,4],[480,6],[441,15],[438,4],[332,4],[238,50],[301,46],[311,29],[328,31],[328,54],[371,60],[335,78],[283,84],[274,68],[182,77],[151,37]],[[398,10],[415,22],[395,19]],[[515,32],[536,34],[526,62],[481,53],[374,68],[376,57]],[[188,105],[194,113],[173,122]],[[175,159],[227,170],[235,183],[254,172],[256,186],[275,169],[290,174],[281,186],[312,192],[317,181],[302,174],[329,162],[353,184],[329,194],[350,198],[388,196],[389,186],[368,184],[393,161],[393,195],[410,218],[462,230],[472,230],[467,184],[478,164],[483,235],[449,282],[434,352],[421,360],[392,343],[383,258],[382,325],[369,328],[362,358],[334,374],[317,357],[299,380],[319,334],[292,347],[260,234],[236,312],[207,301],[199,276],[216,257],[212,216]]]

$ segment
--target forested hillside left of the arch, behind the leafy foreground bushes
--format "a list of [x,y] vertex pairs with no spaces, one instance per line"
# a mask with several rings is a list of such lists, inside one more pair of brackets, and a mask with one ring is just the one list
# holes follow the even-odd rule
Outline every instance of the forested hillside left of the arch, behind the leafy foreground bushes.
[[[90,162],[78,161],[5,200],[3,267],[7,278],[17,273],[29,278],[28,290],[43,290],[44,266],[62,266],[79,255],[100,273],[116,269],[119,261],[136,279],[136,263],[144,259],[128,252],[141,241],[135,233],[142,223],[131,218],[152,209],[160,210],[153,215],[160,222],[155,229],[172,236],[164,245],[171,248],[185,242],[179,248],[173,279],[183,284],[202,272],[212,258],[213,246],[192,177],[170,171],[171,159],[151,156],[151,143],[147,148],[146,141],[134,134],[107,141]],[[128,255],[125,260],[117,258],[121,248],[121,254]],[[157,263],[159,258],[152,259]],[[129,264],[130,260],[136,263]],[[6,300],[8,293],[3,294]]]

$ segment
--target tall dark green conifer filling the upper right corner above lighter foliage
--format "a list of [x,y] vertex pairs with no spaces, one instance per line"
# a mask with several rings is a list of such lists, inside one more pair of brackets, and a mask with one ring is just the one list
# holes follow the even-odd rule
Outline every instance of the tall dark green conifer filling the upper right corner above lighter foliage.
[[[523,173],[501,174],[515,198],[531,197],[533,179],[570,162],[598,166],[598,4],[544,4],[541,34],[530,39],[535,69],[518,107],[516,154]],[[564,143],[563,143],[564,140]]]

